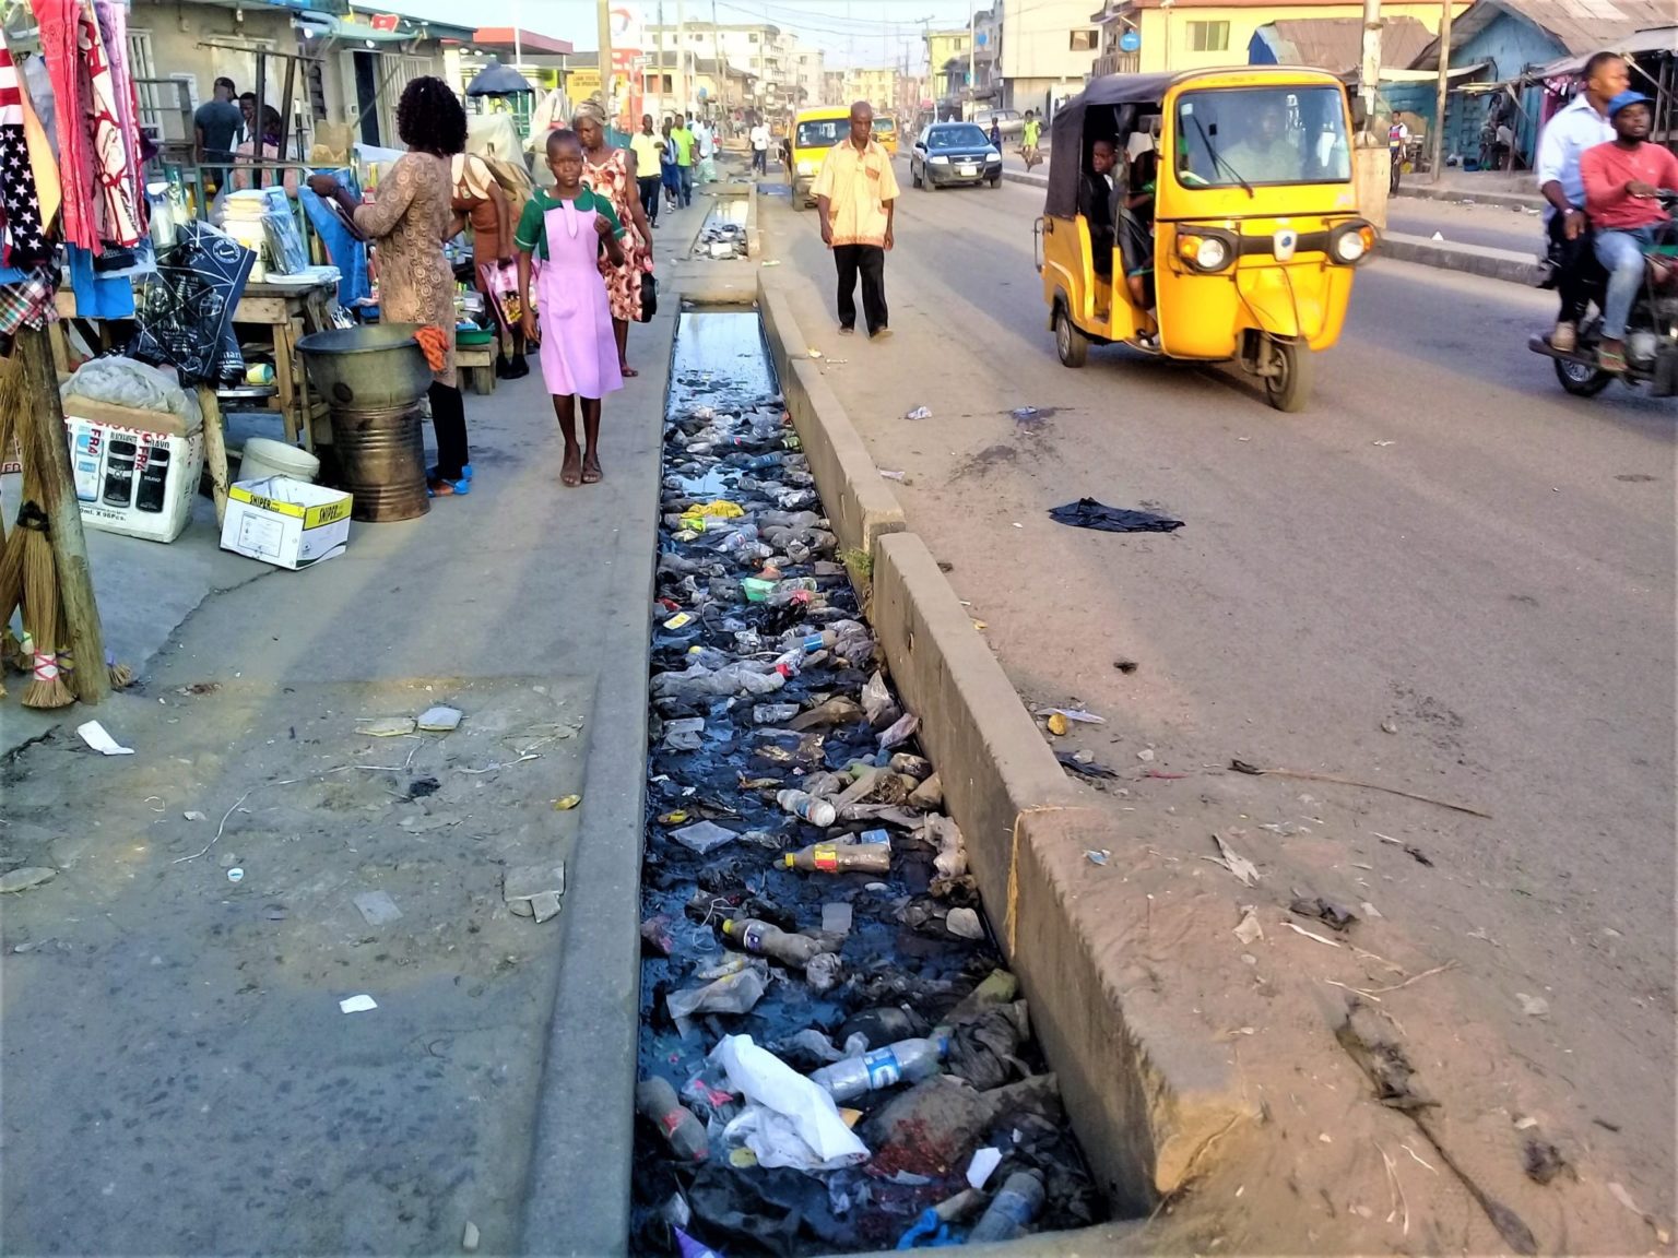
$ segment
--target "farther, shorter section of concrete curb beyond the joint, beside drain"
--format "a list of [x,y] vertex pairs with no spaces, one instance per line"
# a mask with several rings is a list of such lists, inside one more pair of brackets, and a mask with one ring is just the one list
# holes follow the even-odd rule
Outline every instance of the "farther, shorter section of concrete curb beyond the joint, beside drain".
[[810,342],[792,317],[792,305],[782,294],[763,285],[762,272],[757,295],[780,392],[804,443],[804,455],[810,461],[810,473],[821,488],[839,545],[871,555],[878,537],[906,527],[903,507],[881,480],[851,416],[822,379],[821,367],[805,356]]

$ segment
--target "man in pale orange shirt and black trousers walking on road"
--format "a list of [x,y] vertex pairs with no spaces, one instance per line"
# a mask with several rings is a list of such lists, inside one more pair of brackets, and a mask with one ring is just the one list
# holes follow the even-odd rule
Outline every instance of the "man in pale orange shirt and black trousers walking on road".
[[891,156],[874,141],[874,109],[851,106],[851,136],[827,149],[810,191],[822,220],[822,243],[839,270],[839,332],[856,330],[856,282],[862,278],[862,315],[869,337],[891,335],[886,310],[886,252],[898,200]]

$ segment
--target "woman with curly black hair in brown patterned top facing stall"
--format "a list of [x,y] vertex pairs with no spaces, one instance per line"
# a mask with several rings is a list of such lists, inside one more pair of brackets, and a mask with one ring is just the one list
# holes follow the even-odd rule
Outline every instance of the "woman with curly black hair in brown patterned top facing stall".
[[455,382],[455,273],[443,257],[453,226],[450,158],[466,148],[466,111],[441,79],[413,79],[396,106],[396,134],[408,153],[379,181],[373,205],[356,201],[331,174],[310,176],[309,186],[337,201],[379,250],[379,317],[421,325],[436,433],[430,486],[446,498],[472,488],[466,406]]

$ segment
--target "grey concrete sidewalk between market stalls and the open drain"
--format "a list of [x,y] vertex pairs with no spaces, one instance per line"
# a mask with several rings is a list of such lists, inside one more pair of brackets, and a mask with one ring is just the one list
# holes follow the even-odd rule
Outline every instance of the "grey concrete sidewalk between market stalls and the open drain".
[[[7,1251],[448,1253],[468,1221],[490,1253],[623,1246],[661,278],[602,485],[560,488],[532,371],[466,394],[470,496],[356,525],[339,559],[247,564],[203,522],[134,543],[154,590],[223,592],[148,607],[143,688],[64,713],[136,755],[44,721],[5,767],[0,869],[57,871],[0,941],[0,1067],[30,1080],[0,1129]],[[435,703],[460,730],[357,733]],[[508,871],[559,862],[559,918],[513,916]]]

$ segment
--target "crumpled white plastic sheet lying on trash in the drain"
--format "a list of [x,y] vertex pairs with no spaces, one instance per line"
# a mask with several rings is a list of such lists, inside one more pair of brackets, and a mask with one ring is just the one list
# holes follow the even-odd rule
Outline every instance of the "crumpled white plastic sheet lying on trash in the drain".
[[832,1171],[868,1161],[868,1146],[844,1125],[827,1089],[758,1048],[750,1035],[725,1037],[710,1060],[752,1102],[728,1131],[745,1139],[762,1166]]

